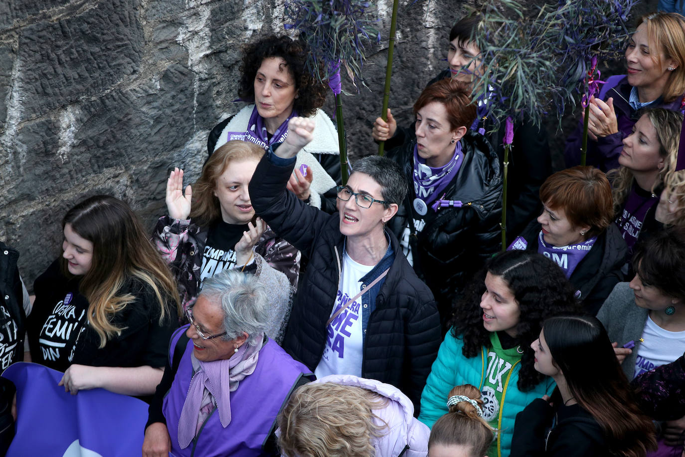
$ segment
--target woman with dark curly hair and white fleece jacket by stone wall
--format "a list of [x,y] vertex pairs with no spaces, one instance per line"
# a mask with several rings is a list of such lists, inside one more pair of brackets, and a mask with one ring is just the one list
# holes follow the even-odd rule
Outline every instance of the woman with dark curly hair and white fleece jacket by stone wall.
[[[319,108],[326,99],[326,86],[305,69],[307,49],[303,42],[287,36],[266,36],[245,46],[240,68],[240,100],[251,103],[216,125],[207,140],[211,156],[230,140],[246,140],[269,149],[288,136],[288,120],[303,116],[314,119],[312,142],[297,154],[297,166],[288,189],[300,199],[321,207],[320,194],[340,184],[338,134],[329,117]],[[302,171],[306,165],[307,171]],[[312,180],[313,179],[313,180]],[[334,204],[327,210],[334,210]]]

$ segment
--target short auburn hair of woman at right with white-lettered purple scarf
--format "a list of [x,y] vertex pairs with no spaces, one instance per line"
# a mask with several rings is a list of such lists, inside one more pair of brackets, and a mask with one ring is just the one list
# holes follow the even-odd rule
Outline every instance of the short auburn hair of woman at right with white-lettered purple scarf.
[[562,209],[575,227],[589,225],[588,238],[606,230],[614,215],[611,184],[593,166],[554,173],[540,186],[540,201],[553,210]]

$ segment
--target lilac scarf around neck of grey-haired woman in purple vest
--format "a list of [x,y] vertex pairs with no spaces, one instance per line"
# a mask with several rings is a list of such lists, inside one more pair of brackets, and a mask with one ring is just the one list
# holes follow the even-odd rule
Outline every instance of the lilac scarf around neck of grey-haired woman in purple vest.
[[199,363],[199,370],[190,380],[186,402],[178,421],[178,443],[181,449],[188,447],[195,437],[198,418],[203,408],[210,404],[208,400],[216,402],[221,425],[226,428],[231,423],[230,392],[235,391],[240,381],[255,371],[259,351],[264,344],[264,334],[258,334],[256,338],[256,345],[245,343],[228,360],[200,362],[194,354],[190,354],[193,362]]

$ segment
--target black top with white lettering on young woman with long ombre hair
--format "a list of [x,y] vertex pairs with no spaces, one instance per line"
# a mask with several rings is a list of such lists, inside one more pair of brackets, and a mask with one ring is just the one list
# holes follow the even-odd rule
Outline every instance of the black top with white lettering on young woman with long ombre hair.
[[36,279],[34,308],[27,319],[32,360],[58,371],[69,365],[93,367],[164,367],[171,334],[178,327],[175,303],[160,325],[160,306],[151,287],[131,278],[118,295],[135,300],[118,312],[112,323],[121,334],[100,348],[97,332],[88,325],[88,300],[79,293],[80,277],[65,277],[60,260]]

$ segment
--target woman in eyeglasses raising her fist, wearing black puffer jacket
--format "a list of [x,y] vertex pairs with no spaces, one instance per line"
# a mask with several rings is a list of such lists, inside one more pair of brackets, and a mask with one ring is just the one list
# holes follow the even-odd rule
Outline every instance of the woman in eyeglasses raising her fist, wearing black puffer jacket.
[[407,182],[392,160],[369,156],[327,214],[286,190],[295,155],[314,124],[291,119],[288,137],[258,164],[252,204],[274,232],[309,258],[283,347],[316,378],[355,375],[393,384],[419,405],[440,345],[433,295],[386,230]]

